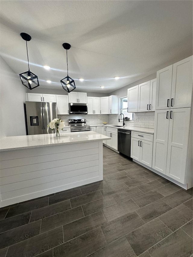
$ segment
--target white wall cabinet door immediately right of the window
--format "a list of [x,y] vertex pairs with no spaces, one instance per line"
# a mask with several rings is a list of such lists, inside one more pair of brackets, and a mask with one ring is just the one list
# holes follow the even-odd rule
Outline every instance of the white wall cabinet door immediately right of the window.
[[138,85],[128,89],[128,112],[138,111]]

